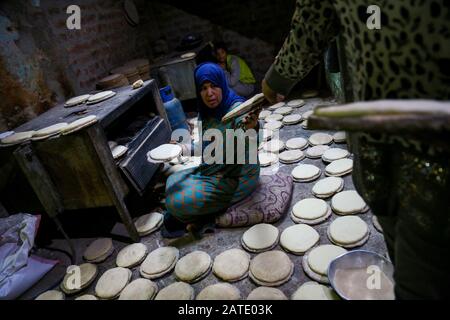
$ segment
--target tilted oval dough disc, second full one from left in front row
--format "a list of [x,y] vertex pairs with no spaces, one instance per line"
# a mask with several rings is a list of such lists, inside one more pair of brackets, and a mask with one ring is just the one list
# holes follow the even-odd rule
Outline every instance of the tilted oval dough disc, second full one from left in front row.
[[132,272],[126,268],[112,268],[107,270],[95,286],[95,295],[100,299],[115,299],[131,280]]

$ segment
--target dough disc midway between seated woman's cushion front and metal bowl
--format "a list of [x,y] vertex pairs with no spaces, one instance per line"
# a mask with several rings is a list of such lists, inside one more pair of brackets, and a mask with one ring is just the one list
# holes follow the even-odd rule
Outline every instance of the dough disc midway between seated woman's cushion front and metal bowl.
[[280,237],[280,245],[287,252],[302,255],[317,242],[319,242],[319,233],[314,228],[306,224],[297,224],[284,229]]

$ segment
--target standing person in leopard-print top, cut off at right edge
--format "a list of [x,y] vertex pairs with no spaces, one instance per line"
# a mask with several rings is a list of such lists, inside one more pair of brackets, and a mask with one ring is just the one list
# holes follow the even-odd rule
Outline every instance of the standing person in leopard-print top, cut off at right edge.
[[[297,0],[291,31],[262,83],[282,100],[338,34],[356,101],[450,99],[450,8],[445,1]],[[353,179],[384,230],[398,299],[450,297],[449,141],[418,134],[349,134]],[[447,146],[447,147],[443,147]]]

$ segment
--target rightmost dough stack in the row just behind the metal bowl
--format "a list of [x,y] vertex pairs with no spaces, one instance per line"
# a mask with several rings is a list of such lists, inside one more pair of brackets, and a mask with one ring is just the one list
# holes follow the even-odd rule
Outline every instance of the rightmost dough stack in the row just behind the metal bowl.
[[360,217],[339,217],[330,223],[327,234],[334,244],[355,248],[362,246],[369,239],[369,227]]

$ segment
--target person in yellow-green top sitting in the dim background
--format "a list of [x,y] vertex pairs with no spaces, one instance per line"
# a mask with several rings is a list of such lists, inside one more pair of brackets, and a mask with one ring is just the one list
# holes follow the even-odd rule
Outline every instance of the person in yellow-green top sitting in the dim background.
[[223,42],[216,42],[214,50],[218,64],[225,70],[230,88],[245,98],[253,95],[256,80],[247,63],[236,55],[228,54]]

